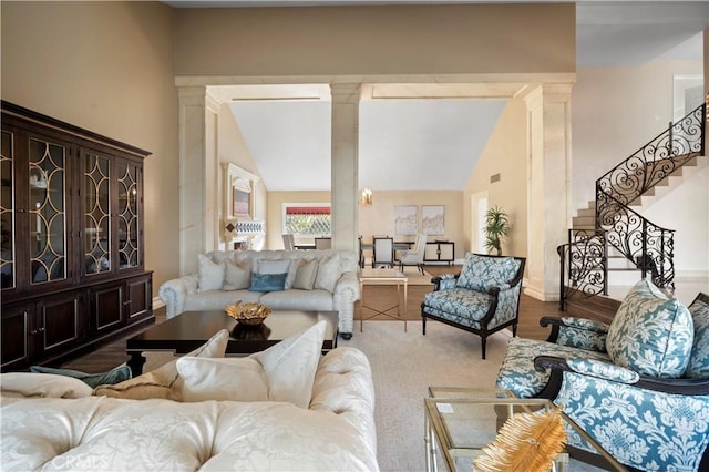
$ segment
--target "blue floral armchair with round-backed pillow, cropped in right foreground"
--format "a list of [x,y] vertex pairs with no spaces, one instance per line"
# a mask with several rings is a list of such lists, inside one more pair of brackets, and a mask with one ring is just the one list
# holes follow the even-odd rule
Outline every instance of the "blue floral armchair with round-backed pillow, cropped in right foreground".
[[[610,325],[545,317],[513,338],[497,388],[548,398],[631,470],[709,470],[709,296],[689,308],[641,280]],[[572,449],[590,450],[568,431]]]

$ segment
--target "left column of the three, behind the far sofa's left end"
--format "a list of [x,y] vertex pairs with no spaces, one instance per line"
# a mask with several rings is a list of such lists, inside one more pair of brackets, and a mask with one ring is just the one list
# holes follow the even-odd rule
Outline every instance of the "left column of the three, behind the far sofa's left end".
[[[216,227],[219,103],[206,86],[179,86],[179,274],[218,244]],[[209,184],[213,183],[213,184]]]

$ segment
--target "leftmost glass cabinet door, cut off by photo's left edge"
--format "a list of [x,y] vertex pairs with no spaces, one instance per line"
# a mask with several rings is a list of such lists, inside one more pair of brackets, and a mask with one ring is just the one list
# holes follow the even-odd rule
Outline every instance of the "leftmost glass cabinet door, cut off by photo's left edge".
[[14,134],[2,130],[0,153],[0,288],[13,288],[14,276]]

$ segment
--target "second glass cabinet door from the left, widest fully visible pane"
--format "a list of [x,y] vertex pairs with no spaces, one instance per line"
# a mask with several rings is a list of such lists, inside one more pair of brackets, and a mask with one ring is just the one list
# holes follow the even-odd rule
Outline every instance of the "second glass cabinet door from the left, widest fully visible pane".
[[29,140],[30,285],[66,278],[66,148]]

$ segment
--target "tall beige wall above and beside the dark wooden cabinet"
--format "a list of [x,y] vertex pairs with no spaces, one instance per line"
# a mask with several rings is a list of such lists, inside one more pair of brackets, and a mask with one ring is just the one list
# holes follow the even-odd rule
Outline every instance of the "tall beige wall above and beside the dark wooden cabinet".
[[145,267],[178,273],[173,10],[158,2],[0,3],[2,99],[151,151]]

